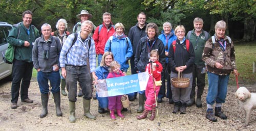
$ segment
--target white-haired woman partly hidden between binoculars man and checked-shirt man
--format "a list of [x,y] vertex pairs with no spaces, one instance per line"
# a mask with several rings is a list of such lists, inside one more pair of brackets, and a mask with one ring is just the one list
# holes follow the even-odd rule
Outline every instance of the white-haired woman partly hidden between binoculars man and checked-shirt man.
[[[65,19],[59,19],[58,22],[56,23],[56,31],[52,32],[51,35],[52,36],[56,36],[59,38],[60,42],[61,42],[61,46],[63,45],[63,43],[65,42],[65,40],[67,39],[68,35],[70,34],[68,31],[66,31],[68,28],[68,23]],[[61,73],[61,69],[59,70]],[[62,75],[60,75],[60,87],[61,87],[61,94],[63,96],[67,96],[67,93],[65,91],[65,87],[66,87],[66,81],[65,78],[62,77]]]

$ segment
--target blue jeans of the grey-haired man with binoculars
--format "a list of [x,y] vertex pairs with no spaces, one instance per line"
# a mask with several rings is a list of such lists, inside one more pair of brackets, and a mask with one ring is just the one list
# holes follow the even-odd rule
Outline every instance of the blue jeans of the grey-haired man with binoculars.
[[60,75],[59,71],[52,71],[52,72],[37,72],[37,82],[39,85],[39,89],[41,94],[48,94],[49,93],[49,85],[48,80],[50,80],[51,84],[51,92],[57,93],[59,92],[59,85],[60,85]]

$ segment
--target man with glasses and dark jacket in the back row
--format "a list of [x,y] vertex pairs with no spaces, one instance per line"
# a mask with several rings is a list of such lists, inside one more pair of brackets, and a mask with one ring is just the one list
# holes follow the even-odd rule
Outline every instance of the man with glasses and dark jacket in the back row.
[[[132,74],[136,74],[136,70],[134,69],[134,56],[136,52],[137,45],[139,44],[140,38],[146,36],[146,14],[144,12],[140,12],[137,16],[138,22],[134,25],[129,31],[129,39],[131,40],[133,46],[133,56],[131,57],[131,70]],[[130,95],[129,95],[130,96]],[[135,92],[134,97],[129,97],[130,101],[134,101],[137,97],[137,92]]]

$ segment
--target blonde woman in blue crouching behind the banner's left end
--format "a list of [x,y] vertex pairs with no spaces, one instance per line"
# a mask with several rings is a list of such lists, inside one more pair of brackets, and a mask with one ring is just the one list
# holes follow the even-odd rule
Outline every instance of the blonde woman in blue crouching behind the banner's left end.
[[[96,68],[96,76],[98,77],[98,80],[103,80],[109,75],[109,68],[110,63],[114,61],[114,55],[110,51],[106,51],[101,59],[100,65]],[[105,110],[108,108],[109,100],[108,97],[98,97],[98,94],[96,93],[96,97],[99,102],[98,106],[98,112],[100,114],[106,113]]]

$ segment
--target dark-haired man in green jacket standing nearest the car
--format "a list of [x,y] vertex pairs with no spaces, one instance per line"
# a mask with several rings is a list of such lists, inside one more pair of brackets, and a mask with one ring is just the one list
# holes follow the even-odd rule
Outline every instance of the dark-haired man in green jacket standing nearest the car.
[[[23,12],[23,22],[16,24],[8,36],[9,44],[15,46],[12,67],[12,109],[17,108],[19,88],[22,102],[33,102],[28,97],[28,89],[33,69],[32,48],[35,39],[39,37],[39,31],[31,24],[32,15],[33,13],[29,10]],[[22,82],[21,86],[20,82]]]

